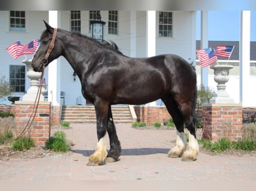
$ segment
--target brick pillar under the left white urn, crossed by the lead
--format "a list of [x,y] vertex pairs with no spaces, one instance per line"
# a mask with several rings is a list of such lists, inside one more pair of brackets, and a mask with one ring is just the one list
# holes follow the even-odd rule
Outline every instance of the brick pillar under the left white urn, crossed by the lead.
[[[35,111],[34,101],[15,101],[16,136],[19,136],[24,130],[32,114],[33,108]],[[32,118],[33,116],[31,117],[31,120]],[[35,140],[35,143],[40,145],[44,144],[44,142],[49,139],[50,102],[39,101],[35,118],[25,133],[25,136],[31,136]]]

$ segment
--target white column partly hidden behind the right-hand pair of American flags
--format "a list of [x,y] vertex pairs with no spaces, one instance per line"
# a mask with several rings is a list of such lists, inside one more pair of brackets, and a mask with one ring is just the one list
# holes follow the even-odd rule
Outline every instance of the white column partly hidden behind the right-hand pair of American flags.
[[[201,49],[208,47],[208,11],[201,11]],[[201,84],[208,86],[208,67],[201,67]]]

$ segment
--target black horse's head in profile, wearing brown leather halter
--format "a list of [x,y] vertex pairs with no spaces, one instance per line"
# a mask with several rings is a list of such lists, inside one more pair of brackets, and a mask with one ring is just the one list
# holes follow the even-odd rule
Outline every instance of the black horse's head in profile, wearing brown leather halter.
[[[43,65],[46,67],[54,59],[61,55],[61,42],[58,41],[57,36],[55,41],[52,42],[54,36],[54,28],[52,28],[48,23],[43,21],[46,30],[42,33],[40,38],[40,45],[32,59],[31,67],[35,72],[41,72]],[[52,45],[54,44],[54,45]]]

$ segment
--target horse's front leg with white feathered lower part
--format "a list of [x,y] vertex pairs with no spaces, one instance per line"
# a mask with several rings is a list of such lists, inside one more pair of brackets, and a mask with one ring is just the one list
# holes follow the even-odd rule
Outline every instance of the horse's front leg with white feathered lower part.
[[106,101],[94,102],[97,118],[98,144],[95,152],[89,157],[88,166],[97,166],[105,163],[107,158],[106,142],[104,136],[107,131],[107,113],[109,103]]

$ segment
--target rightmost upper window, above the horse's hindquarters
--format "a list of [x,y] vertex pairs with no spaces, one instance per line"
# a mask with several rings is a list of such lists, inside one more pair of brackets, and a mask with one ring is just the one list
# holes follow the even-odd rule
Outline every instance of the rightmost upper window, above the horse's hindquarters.
[[159,37],[172,37],[172,12],[159,12]]

